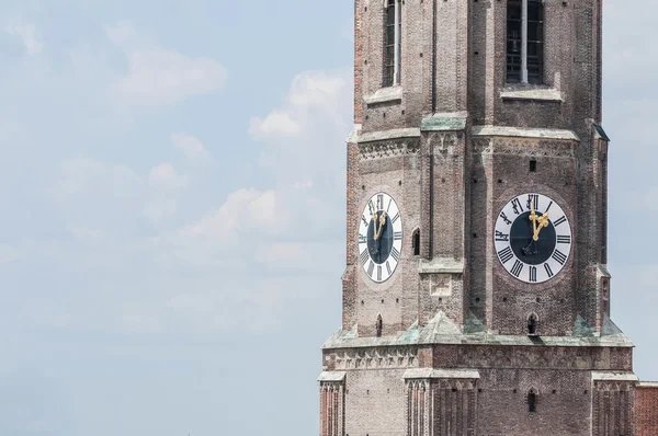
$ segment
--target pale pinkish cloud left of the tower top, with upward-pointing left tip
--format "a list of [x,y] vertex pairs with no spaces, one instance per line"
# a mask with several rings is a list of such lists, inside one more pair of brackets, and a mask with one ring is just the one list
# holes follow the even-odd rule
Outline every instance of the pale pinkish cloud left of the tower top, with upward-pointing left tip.
[[129,24],[109,26],[110,42],[126,55],[128,72],[115,85],[122,101],[136,106],[174,104],[220,91],[227,70],[214,59],[192,58],[158,47]]

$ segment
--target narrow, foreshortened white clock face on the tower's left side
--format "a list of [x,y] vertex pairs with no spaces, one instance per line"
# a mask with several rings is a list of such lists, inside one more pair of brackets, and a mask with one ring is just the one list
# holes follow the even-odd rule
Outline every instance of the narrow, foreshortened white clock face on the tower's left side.
[[376,283],[386,282],[400,261],[402,218],[393,197],[378,193],[366,203],[359,226],[359,253],[365,274]]

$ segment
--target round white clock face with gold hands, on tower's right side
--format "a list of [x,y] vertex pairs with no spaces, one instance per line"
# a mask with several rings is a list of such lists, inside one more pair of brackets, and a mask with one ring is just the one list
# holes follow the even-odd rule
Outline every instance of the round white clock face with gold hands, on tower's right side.
[[498,214],[495,229],[498,259],[512,276],[544,283],[565,267],[571,253],[571,226],[563,208],[546,195],[512,198]]

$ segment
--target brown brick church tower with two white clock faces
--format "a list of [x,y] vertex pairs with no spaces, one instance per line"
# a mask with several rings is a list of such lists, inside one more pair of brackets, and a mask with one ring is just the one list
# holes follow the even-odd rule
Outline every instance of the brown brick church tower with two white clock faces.
[[633,435],[602,0],[355,0],[321,436]]

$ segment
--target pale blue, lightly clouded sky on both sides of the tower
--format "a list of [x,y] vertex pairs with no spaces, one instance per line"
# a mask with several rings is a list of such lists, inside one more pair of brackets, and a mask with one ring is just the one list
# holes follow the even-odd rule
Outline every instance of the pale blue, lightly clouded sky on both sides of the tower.
[[[658,3],[604,9],[612,315],[656,380]],[[0,0],[1,435],[317,434],[352,13]]]

